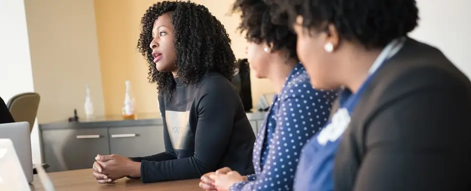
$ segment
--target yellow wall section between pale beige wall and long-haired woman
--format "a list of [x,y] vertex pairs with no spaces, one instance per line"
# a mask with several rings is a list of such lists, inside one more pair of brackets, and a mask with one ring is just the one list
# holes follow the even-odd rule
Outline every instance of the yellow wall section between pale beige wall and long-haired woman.
[[137,51],[143,12],[156,0],[95,0],[103,95],[107,115],[120,115],[124,81],[131,81],[138,113],[159,111],[157,89],[147,79],[147,65]]

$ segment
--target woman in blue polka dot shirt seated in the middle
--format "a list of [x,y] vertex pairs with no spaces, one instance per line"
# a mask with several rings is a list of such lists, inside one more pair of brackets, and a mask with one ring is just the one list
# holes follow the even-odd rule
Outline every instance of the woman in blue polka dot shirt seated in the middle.
[[[229,168],[201,177],[200,187],[218,191],[288,191],[302,146],[327,122],[336,91],[313,89],[296,56],[296,36],[271,22],[271,5],[236,0],[240,29],[249,42],[247,58],[257,78],[268,78],[277,95],[255,141],[255,174],[241,176]],[[313,156],[315,157],[315,156]]]

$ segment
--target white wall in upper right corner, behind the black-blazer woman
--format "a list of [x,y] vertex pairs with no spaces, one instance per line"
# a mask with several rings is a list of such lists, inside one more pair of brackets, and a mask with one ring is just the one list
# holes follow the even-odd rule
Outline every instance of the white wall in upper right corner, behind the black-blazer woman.
[[420,21],[411,37],[439,48],[471,78],[471,0],[417,0]]

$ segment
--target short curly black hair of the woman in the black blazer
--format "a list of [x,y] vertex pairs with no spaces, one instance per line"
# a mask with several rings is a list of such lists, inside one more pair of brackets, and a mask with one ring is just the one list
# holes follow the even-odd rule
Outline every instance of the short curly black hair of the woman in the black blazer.
[[281,13],[290,14],[292,26],[297,15],[302,26],[327,31],[335,25],[343,40],[365,48],[384,48],[393,39],[405,37],[419,19],[415,0],[275,0]]

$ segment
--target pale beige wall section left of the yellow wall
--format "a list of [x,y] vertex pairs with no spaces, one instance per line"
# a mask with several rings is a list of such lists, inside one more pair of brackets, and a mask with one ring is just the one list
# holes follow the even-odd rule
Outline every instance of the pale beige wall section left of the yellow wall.
[[[38,122],[84,116],[89,83],[95,115],[104,115],[93,0],[25,0]],[[18,50],[20,51],[20,50]]]

